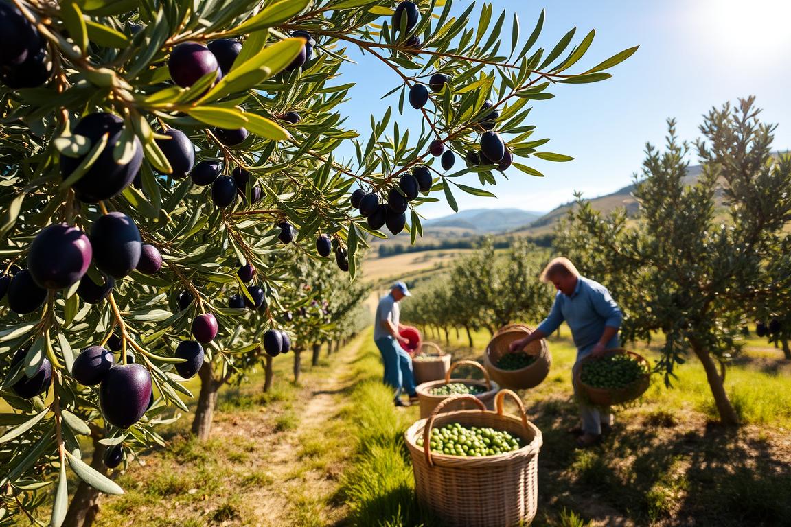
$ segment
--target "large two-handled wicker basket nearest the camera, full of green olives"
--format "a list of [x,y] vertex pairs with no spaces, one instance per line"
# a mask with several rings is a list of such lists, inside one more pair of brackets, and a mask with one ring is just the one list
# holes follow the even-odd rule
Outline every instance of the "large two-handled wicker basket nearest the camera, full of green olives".
[[[503,413],[503,398],[513,397],[520,416]],[[464,399],[479,409],[442,412],[452,401]],[[524,446],[506,454],[463,457],[430,451],[431,430],[446,423],[492,427],[518,436]],[[418,437],[423,446],[418,446]],[[497,395],[497,412],[487,412],[471,395],[456,395],[442,401],[428,419],[419,420],[404,434],[414,467],[418,502],[448,527],[512,527],[529,525],[536,516],[538,455],[541,431],[528,421],[516,393]]]

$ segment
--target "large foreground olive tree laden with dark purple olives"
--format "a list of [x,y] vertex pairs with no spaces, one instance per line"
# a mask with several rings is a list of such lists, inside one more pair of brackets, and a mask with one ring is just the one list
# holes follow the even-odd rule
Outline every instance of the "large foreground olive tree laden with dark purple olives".
[[[312,253],[326,236],[354,277],[366,233],[387,224],[414,240],[415,209],[435,195],[456,208],[454,190],[490,194],[460,176],[494,184],[515,156],[567,160],[538,151],[547,140],[524,123],[531,101],[550,99],[554,82],[604,80],[634,52],[570,73],[593,32],[534,50],[543,13],[526,40],[513,17],[506,53],[505,13],[419,3],[0,2],[0,374],[13,408],[0,416],[0,525],[48,499],[62,525],[67,470],[123,492],[95,468],[100,449],[83,461],[78,436],[125,466],[165,444],[157,424],[187,411],[185,377],[239,366],[257,344],[225,303],[240,265],[255,268],[275,311],[275,293],[294,285],[287,258],[271,255]],[[420,130],[390,106],[367,139],[343,126],[348,47],[392,70],[386,95],[403,112],[409,92]],[[350,160],[335,155],[343,141],[354,141]],[[458,171],[433,160],[444,152],[452,167],[467,151],[477,161]],[[353,186],[369,196],[360,213]]]

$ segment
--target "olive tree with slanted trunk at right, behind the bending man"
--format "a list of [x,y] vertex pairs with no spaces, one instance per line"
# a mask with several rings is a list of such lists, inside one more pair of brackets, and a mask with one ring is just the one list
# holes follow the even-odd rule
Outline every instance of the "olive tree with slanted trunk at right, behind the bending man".
[[557,248],[617,295],[626,340],[664,333],[657,369],[668,386],[691,350],[721,422],[736,425],[725,371],[740,327],[788,288],[791,157],[771,155],[775,126],[760,121],[752,98],[725,104],[705,116],[695,144],[702,175],[687,185],[689,146],[668,123],[665,151],[646,147],[638,216],[605,215],[580,199]]

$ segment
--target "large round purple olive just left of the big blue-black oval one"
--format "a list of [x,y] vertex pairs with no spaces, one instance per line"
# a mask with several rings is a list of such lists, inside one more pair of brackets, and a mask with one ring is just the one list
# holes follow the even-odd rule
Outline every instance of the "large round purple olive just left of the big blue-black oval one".
[[64,289],[78,282],[91,265],[88,236],[69,224],[52,224],[33,239],[28,270],[41,288]]

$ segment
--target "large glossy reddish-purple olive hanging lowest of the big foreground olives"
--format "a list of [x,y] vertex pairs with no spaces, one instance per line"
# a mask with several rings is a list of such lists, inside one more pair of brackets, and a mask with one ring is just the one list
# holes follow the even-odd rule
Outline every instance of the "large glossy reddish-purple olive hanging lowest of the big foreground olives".
[[99,385],[99,405],[104,420],[115,427],[131,427],[146,413],[151,390],[151,375],[140,364],[119,364],[110,368]]

